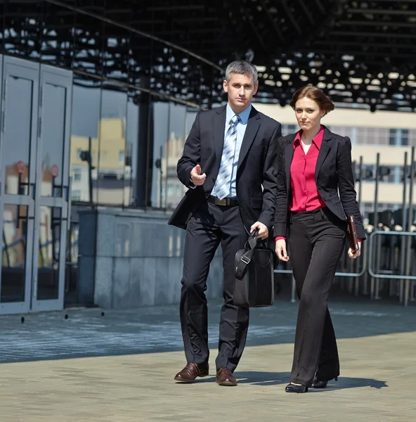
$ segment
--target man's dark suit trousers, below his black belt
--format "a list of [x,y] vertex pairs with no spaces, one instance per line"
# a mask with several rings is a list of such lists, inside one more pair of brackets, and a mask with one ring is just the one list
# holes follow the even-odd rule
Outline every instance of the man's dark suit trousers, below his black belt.
[[244,248],[248,234],[238,206],[204,203],[188,222],[183,256],[181,327],[188,363],[208,363],[207,276],[221,243],[223,298],[216,368],[234,371],[247,338],[249,309],[233,305],[235,253]]

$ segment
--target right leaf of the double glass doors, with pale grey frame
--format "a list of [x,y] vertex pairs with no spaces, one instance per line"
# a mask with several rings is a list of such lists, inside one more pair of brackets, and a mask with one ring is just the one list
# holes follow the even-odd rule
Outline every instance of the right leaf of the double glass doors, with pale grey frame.
[[72,72],[41,65],[32,310],[63,309]]

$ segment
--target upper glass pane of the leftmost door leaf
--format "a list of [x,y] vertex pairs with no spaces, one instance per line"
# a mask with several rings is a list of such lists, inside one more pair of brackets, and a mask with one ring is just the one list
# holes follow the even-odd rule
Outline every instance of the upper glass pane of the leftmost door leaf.
[[4,193],[29,192],[33,82],[8,75],[4,105]]

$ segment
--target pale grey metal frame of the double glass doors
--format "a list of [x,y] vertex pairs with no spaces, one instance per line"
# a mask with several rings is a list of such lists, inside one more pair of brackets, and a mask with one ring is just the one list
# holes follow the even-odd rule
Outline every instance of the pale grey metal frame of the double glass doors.
[[[6,116],[6,84],[8,75],[30,79],[32,87],[32,122],[30,128],[30,160],[28,195],[4,193],[6,170],[4,166],[4,122]],[[70,215],[70,134],[72,121],[72,71],[41,65],[23,58],[0,55],[0,229],[3,228],[4,205],[27,206],[27,238],[25,257],[25,300],[22,302],[0,302],[0,314],[18,314],[63,309],[65,296],[65,258]],[[44,118],[44,85],[55,84],[65,88],[65,122],[63,134],[62,196],[41,196],[42,183],[42,120]],[[38,300],[37,277],[39,265],[39,236],[41,207],[60,208],[60,255],[58,273],[58,298]],[[0,248],[2,251],[2,247]],[[0,273],[1,288],[1,273]]]

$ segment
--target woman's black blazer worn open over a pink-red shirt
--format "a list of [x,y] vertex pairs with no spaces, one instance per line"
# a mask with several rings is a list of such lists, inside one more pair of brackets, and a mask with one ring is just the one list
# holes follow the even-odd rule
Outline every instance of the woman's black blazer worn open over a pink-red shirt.
[[[347,136],[333,134],[325,126],[323,143],[316,162],[315,180],[318,193],[330,211],[339,219],[353,215],[358,238],[365,239],[363,219],[356,200],[351,164],[351,141]],[[274,236],[287,236],[289,206],[292,195],[290,165],[293,158],[293,142],[297,134],[279,139],[276,167],[278,181],[276,191]]]

